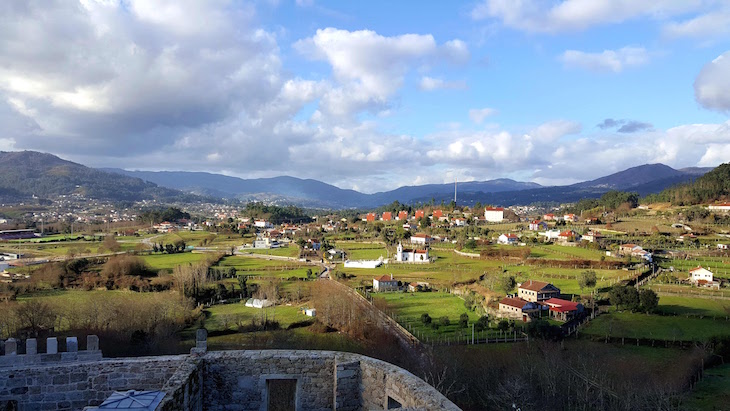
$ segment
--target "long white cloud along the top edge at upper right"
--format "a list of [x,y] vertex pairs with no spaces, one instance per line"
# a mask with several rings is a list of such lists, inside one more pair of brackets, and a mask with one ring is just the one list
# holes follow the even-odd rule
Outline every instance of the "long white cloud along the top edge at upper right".
[[666,18],[704,4],[703,0],[482,0],[472,9],[471,17],[499,19],[507,27],[527,32],[557,33],[639,17]]

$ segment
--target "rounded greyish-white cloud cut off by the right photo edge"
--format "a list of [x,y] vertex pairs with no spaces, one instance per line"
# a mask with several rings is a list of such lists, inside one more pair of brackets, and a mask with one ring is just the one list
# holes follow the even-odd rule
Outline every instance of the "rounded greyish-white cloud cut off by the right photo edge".
[[730,113],[730,51],[707,63],[695,79],[695,99],[702,107]]

